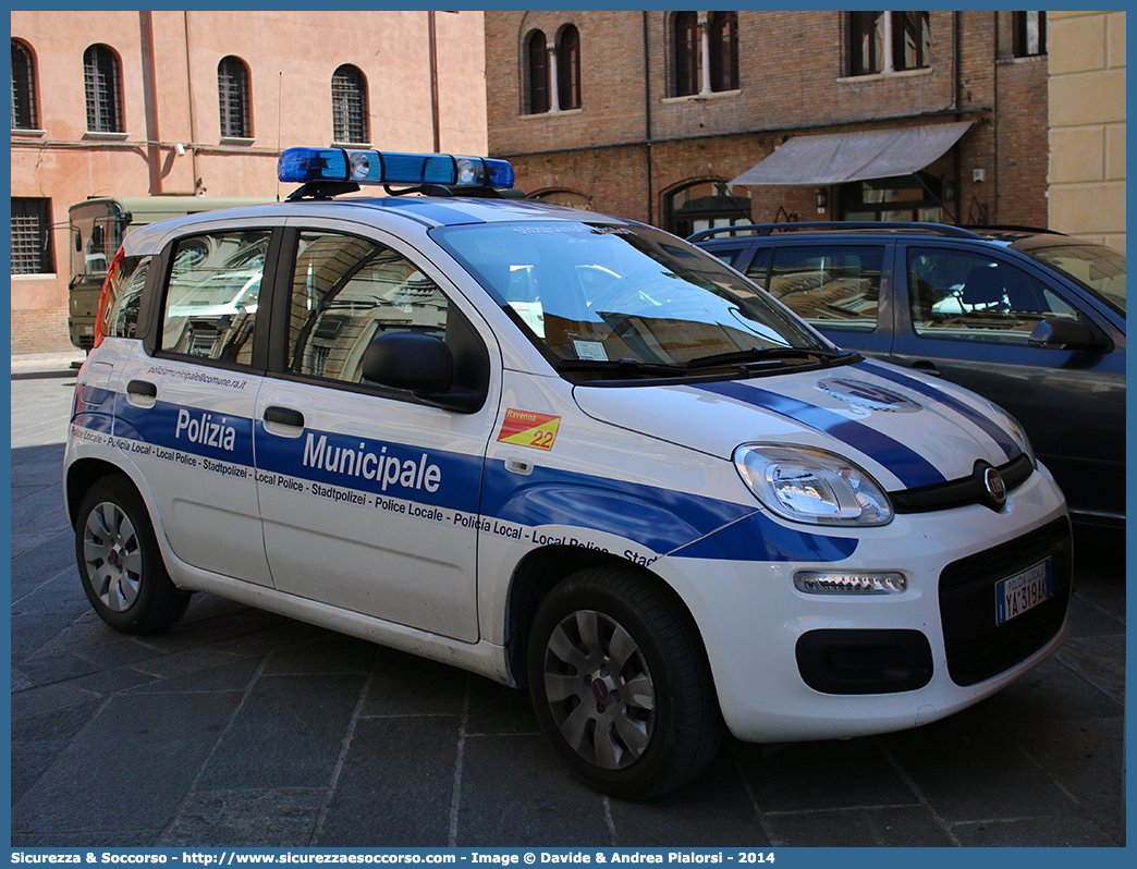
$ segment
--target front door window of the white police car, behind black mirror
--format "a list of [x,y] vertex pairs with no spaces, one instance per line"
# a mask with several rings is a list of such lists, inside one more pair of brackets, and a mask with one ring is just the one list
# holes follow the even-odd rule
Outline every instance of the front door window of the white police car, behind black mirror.
[[367,345],[389,331],[445,340],[449,307],[414,263],[377,241],[302,232],[292,274],[289,371],[366,383]]

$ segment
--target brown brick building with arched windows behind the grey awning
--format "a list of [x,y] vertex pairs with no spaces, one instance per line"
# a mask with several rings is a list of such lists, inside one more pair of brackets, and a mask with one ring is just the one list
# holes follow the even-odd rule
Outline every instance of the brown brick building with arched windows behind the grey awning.
[[[1023,36],[1038,16],[488,11],[490,154],[530,195],[680,233],[866,214],[1045,225],[1045,30]],[[533,102],[558,85],[566,106]],[[951,122],[971,125],[919,181],[723,187],[795,136]]]

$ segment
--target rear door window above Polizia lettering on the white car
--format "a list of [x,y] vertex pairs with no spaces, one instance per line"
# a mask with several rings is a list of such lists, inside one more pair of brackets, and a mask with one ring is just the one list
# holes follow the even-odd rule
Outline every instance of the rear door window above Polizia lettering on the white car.
[[248,365],[271,230],[180,239],[166,290],[165,353]]

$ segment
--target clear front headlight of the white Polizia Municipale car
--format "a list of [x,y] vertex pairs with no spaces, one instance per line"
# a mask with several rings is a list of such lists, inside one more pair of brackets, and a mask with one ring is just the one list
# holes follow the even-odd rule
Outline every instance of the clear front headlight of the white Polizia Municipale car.
[[794,522],[883,525],[893,505],[865,471],[821,449],[744,444],[735,466],[755,497]]

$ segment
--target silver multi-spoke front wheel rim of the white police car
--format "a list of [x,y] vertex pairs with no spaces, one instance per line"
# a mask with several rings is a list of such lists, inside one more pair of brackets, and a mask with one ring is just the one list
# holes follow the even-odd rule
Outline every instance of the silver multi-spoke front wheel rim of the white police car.
[[580,610],[554,628],[545,651],[545,696],[561,735],[600,769],[639,760],[655,729],[655,684],[622,624]]

